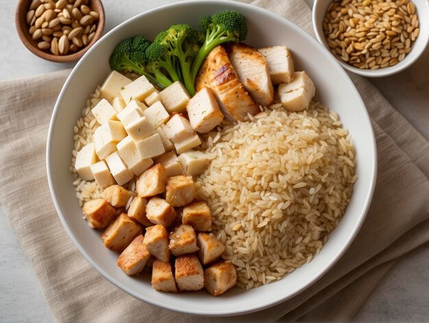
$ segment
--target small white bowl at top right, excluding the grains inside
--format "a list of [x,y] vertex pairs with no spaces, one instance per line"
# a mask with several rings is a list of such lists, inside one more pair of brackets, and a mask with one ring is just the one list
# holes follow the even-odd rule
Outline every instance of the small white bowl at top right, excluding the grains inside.
[[[417,16],[419,18],[419,36],[412,45],[411,51],[405,56],[402,62],[397,63],[393,67],[384,67],[382,69],[358,69],[353,67],[350,64],[343,62],[343,60],[338,60],[342,67],[365,77],[384,77],[399,73],[407,67],[410,67],[417,58],[424,52],[426,46],[428,45],[429,40],[429,2],[428,0],[412,0],[415,4],[417,10]],[[326,43],[325,35],[323,35],[322,22],[325,17],[326,10],[328,5],[332,0],[315,0],[315,3],[312,7],[312,27],[315,29],[317,40],[328,50],[328,43]]]

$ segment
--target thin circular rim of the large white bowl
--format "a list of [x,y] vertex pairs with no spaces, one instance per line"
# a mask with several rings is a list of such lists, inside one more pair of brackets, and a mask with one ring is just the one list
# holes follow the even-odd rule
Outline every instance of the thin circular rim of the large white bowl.
[[90,263],[90,265],[93,265],[93,267],[102,275],[104,276],[104,278],[106,278],[107,280],[110,281],[110,283],[112,283],[113,285],[117,286],[119,289],[125,291],[127,294],[133,296],[134,298],[137,298],[138,300],[142,300],[143,302],[147,302],[149,304],[153,304],[156,305],[158,307],[164,308],[164,309],[169,309],[171,311],[176,311],[176,312],[180,312],[180,313],[187,313],[187,314],[193,314],[193,315],[201,315],[201,316],[213,316],[213,317],[220,317],[220,316],[232,316],[232,315],[242,315],[242,314],[246,314],[246,313],[253,313],[256,311],[260,311],[262,309],[267,309],[269,307],[273,307],[276,304],[280,304],[281,302],[284,302],[285,300],[288,300],[290,298],[292,298],[293,296],[296,296],[297,294],[300,294],[302,291],[304,291],[305,289],[307,289],[308,287],[310,287],[312,284],[314,284],[317,280],[319,280],[319,278],[321,278],[323,275],[325,275],[328,270],[330,270],[332,268],[332,266],[339,261],[339,259],[341,259],[341,256],[343,256],[343,254],[345,253],[345,251],[350,247],[350,245],[352,244],[352,241],[354,241],[354,238],[356,237],[358,231],[360,230],[360,227],[362,226],[363,222],[365,221],[365,217],[367,215],[367,212],[369,210],[369,206],[371,205],[371,200],[373,197],[373,192],[374,189],[376,187],[376,176],[377,176],[377,147],[376,147],[376,139],[375,139],[375,135],[373,132],[373,128],[371,125],[371,120],[369,118],[369,114],[367,112],[367,109],[365,108],[365,104],[363,102],[363,99],[360,97],[360,94],[358,93],[358,90],[356,89],[356,86],[354,86],[354,83],[352,82],[352,80],[350,79],[350,77],[347,75],[347,73],[341,69],[341,66],[338,64],[338,62],[336,62],[336,60],[332,57],[332,55],[327,56],[328,60],[331,60],[331,62],[333,64],[336,64],[336,66],[338,67],[338,71],[339,73],[343,73],[343,77],[345,77],[345,80],[347,82],[347,85],[350,86],[351,91],[353,91],[356,95],[356,97],[359,100],[359,104],[363,107],[363,114],[364,114],[364,119],[368,125],[368,128],[370,130],[369,133],[369,137],[370,137],[370,145],[371,145],[371,152],[372,152],[372,158],[371,158],[371,164],[372,164],[372,169],[371,169],[371,180],[369,182],[369,190],[366,192],[366,196],[365,196],[365,203],[363,204],[362,207],[362,211],[360,212],[360,215],[358,217],[358,221],[356,222],[356,225],[354,226],[354,228],[351,230],[349,237],[347,238],[347,241],[345,241],[344,245],[341,246],[340,250],[334,254],[332,256],[332,259],[330,260],[330,262],[328,263],[328,265],[326,265],[325,267],[323,267],[323,269],[321,269],[317,275],[311,277],[309,280],[307,280],[302,287],[298,288],[293,294],[290,294],[288,296],[285,296],[284,298],[278,298],[277,300],[261,300],[260,305],[258,305],[257,307],[243,307],[241,309],[231,309],[231,310],[219,310],[216,312],[210,312],[210,311],[206,311],[206,310],[201,310],[201,309],[193,309],[192,311],[186,310],[186,309],[182,309],[180,307],[175,306],[174,304],[169,304],[167,302],[162,302],[162,301],[157,301],[151,298],[146,298],[144,295],[141,294],[136,294],[134,293],[134,291],[128,289],[127,287],[123,286],[118,280],[116,280],[116,278],[113,278],[112,276],[110,276],[110,274],[108,274],[108,272],[106,272],[103,267],[97,265],[97,263],[95,263],[95,261],[93,261],[93,259],[91,259],[91,257],[89,256],[89,254],[86,252],[84,246],[82,246],[79,241],[77,241],[77,239],[75,238],[75,236],[73,235],[73,232],[71,231],[71,228],[69,227],[69,224],[67,222],[66,217],[64,217],[64,215],[62,214],[61,211],[61,207],[60,204],[58,202],[58,198],[56,195],[56,191],[54,189],[54,180],[53,180],[53,173],[52,173],[52,169],[53,167],[51,167],[51,165],[53,164],[53,158],[52,158],[52,154],[51,154],[51,150],[52,150],[52,141],[53,141],[53,125],[56,122],[56,117],[58,115],[58,111],[60,108],[60,103],[62,101],[62,98],[64,97],[64,93],[66,92],[66,88],[68,87],[69,83],[71,82],[71,80],[73,79],[77,69],[79,69],[80,65],[82,64],[82,62],[84,62],[84,58],[86,58],[86,56],[90,55],[90,53],[95,50],[98,46],[99,43],[103,42],[104,40],[106,40],[106,38],[108,38],[108,36],[110,34],[113,34],[114,32],[116,32],[118,29],[122,28],[123,25],[130,23],[131,21],[134,20],[138,20],[140,19],[140,16],[145,16],[147,14],[151,14],[153,12],[158,12],[158,11],[162,11],[165,10],[165,8],[177,8],[177,7],[182,7],[182,6],[189,6],[189,5],[194,5],[194,4],[201,4],[201,3],[212,3],[215,5],[219,5],[219,8],[221,8],[222,5],[234,5],[237,10],[240,10],[240,8],[247,8],[249,10],[254,10],[257,14],[262,14],[267,16],[268,19],[276,19],[279,21],[282,21],[282,23],[285,23],[286,25],[289,25],[289,27],[291,27],[292,29],[295,29],[295,31],[299,34],[299,36],[302,36],[303,38],[306,38],[307,41],[309,41],[310,43],[313,43],[313,45],[315,46],[321,46],[321,44],[319,44],[317,42],[317,40],[315,40],[315,38],[312,38],[312,36],[310,36],[310,34],[308,34],[307,32],[305,32],[303,29],[301,29],[300,27],[298,27],[297,25],[295,25],[294,23],[292,23],[291,21],[288,21],[287,19],[284,19],[284,17],[275,14],[269,10],[266,10],[264,8],[260,8],[257,7],[255,5],[250,5],[247,3],[239,3],[239,2],[235,2],[235,1],[229,1],[229,0],[188,0],[188,1],[180,1],[177,3],[171,3],[171,4],[167,4],[167,5],[162,5],[160,7],[157,8],[153,8],[151,10],[147,10],[145,12],[141,12],[140,14],[137,14],[136,16],[133,16],[130,19],[127,19],[126,21],[124,21],[123,23],[119,24],[117,27],[114,27],[112,30],[110,30],[110,32],[108,32],[106,35],[104,35],[101,40],[99,40],[97,42],[97,44],[95,44],[93,47],[91,47],[83,56],[82,60],[79,60],[79,62],[77,62],[76,66],[73,68],[73,70],[71,71],[69,77],[67,77],[66,82],[64,82],[64,85],[62,86],[62,89],[60,91],[60,95],[58,95],[58,99],[56,101],[56,104],[53,108],[53,112],[52,112],[52,116],[51,116],[51,121],[49,122],[49,131],[48,131],[48,136],[47,136],[47,150],[46,150],[46,160],[47,160],[47,178],[48,178],[48,184],[49,184],[49,191],[51,193],[52,196],[52,200],[53,200],[53,204],[56,208],[56,211],[58,213],[58,216],[60,217],[60,220],[62,222],[62,225],[64,226],[67,234],[69,235],[70,239],[73,241],[73,243],[75,243],[75,246],[77,247],[77,249],[79,250],[79,252],[81,252],[85,259],[88,261],[88,263]]

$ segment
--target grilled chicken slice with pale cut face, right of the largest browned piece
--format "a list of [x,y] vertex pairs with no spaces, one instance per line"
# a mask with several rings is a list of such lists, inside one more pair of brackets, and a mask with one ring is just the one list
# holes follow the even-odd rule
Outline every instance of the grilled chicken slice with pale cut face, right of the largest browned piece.
[[271,104],[274,90],[265,56],[241,43],[230,44],[226,50],[238,79],[252,99],[262,106]]

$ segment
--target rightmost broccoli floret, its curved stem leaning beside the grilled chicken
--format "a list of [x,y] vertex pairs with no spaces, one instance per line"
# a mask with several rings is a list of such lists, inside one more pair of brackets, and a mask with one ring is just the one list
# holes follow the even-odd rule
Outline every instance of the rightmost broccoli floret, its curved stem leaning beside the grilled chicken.
[[226,42],[243,41],[247,36],[245,16],[236,11],[222,11],[210,17],[204,17],[201,19],[199,27],[206,33],[206,38],[195,56],[191,72],[193,82],[195,82],[204,58],[213,48]]

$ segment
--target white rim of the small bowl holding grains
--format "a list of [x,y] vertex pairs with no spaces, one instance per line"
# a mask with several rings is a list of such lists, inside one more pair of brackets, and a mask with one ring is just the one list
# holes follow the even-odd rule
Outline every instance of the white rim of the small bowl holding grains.
[[[423,40],[424,45],[421,47],[421,49],[419,49],[419,53],[417,53],[415,56],[406,55],[404,60],[402,61],[402,64],[396,64],[396,65],[393,65],[393,67],[386,67],[383,69],[358,69],[357,67],[353,67],[352,65],[343,62],[339,58],[336,58],[336,56],[334,56],[330,52],[328,45],[326,45],[326,42],[324,41],[325,36],[323,35],[323,33],[321,33],[321,26],[317,24],[316,20],[317,20],[317,14],[319,14],[319,12],[321,11],[321,3],[325,3],[325,1],[326,0],[315,0],[314,1],[313,5],[312,5],[312,10],[311,10],[312,11],[311,12],[312,27],[313,27],[313,30],[315,31],[317,40],[319,40],[319,43],[323,47],[325,47],[325,49],[330,53],[330,55],[333,56],[335,58],[335,60],[337,62],[339,62],[339,64],[344,69],[347,69],[347,71],[350,71],[352,73],[358,74],[360,76],[365,76],[365,77],[386,77],[386,76],[390,76],[390,75],[395,75],[397,73],[404,71],[404,69],[407,69],[412,64],[414,64],[414,62],[421,56],[422,53],[424,53],[426,47],[428,46],[429,33],[426,34],[426,39]],[[330,1],[332,2],[333,0],[330,0]],[[424,0],[424,4],[426,5],[426,8],[425,8],[426,12],[428,12],[428,14],[429,14],[429,0]],[[417,5],[416,5],[416,7],[417,7]],[[422,33],[420,33],[419,36],[422,36],[421,34]]]

